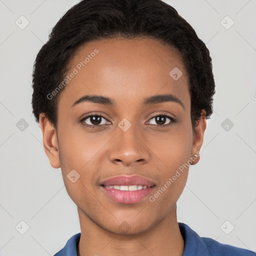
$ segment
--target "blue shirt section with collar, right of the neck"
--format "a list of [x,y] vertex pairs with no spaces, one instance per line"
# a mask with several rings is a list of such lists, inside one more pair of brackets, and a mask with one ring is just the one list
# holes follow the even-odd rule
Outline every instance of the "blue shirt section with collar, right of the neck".
[[256,256],[251,250],[223,244],[212,238],[200,237],[182,222],[178,222],[178,226],[185,244],[182,256]]

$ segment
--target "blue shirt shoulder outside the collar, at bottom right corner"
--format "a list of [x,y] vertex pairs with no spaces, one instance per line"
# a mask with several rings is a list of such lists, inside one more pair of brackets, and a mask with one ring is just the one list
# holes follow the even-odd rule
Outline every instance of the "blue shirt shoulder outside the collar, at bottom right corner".
[[209,250],[210,255],[256,256],[256,253],[251,250],[235,247],[228,244],[223,244],[212,238],[201,237],[201,240]]

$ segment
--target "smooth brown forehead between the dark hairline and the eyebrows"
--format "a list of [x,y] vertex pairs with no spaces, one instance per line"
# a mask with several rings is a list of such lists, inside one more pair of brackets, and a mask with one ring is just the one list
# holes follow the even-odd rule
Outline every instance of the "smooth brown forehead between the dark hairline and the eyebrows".
[[[67,75],[73,75],[59,105],[64,101],[71,106],[85,94],[104,95],[127,105],[164,93],[189,99],[187,73],[179,51],[156,39],[93,40],[76,50],[68,67]],[[182,75],[173,79],[175,73]]]

